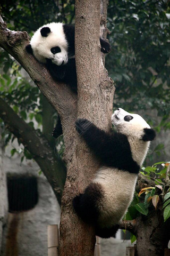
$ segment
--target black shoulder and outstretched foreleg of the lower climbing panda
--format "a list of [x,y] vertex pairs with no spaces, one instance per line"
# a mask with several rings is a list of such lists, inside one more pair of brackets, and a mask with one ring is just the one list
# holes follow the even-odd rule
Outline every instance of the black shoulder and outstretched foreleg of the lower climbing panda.
[[102,165],[139,173],[140,166],[132,158],[126,135],[118,132],[106,133],[87,119],[78,119],[75,125]]

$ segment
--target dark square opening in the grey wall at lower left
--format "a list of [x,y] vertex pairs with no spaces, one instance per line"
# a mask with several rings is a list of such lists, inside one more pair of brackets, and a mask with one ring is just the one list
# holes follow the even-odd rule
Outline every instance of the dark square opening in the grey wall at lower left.
[[7,176],[9,212],[28,211],[38,203],[37,178]]

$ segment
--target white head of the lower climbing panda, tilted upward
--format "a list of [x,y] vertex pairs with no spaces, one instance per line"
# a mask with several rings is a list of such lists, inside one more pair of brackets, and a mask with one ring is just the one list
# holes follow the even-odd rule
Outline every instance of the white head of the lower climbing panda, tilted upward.
[[118,132],[128,137],[138,138],[143,141],[154,140],[156,133],[149,124],[137,114],[130,114],[118,108],[112,115],[112,123]]

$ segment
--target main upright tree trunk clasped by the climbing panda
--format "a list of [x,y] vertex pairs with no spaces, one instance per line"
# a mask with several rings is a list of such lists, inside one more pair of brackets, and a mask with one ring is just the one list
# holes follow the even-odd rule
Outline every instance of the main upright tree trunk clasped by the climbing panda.
[[[113,108],[113,81],[101,64],[100,23],[106,21],[107,1],[75,1],[75,59],[78,77],[78,118],[86,117],[109,130]],[[100,15],[102,13],[103,15]],[[103,23],[104,25],[104,23]],[[103,26],[104,27],[104,26]],[[73,212],[72,199],[82,193],[98,163],[76,133],[72,163],[67,163],[60,225],[61,256],[93,256],[95,230]]]

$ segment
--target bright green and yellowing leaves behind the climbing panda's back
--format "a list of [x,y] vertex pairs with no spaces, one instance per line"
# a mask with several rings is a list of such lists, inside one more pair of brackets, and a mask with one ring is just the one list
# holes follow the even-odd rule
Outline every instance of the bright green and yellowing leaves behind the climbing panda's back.
[[131,206],[126,213],[125,219],[132,220],[139,213],[148,215],[156,211],[158,206],[164,212],[164,221],[170,217],[170,163],[159,162],[152,166],[143,167],[141,174],[147,179],[154,180],[155,186],[142,188],[135,196]]

